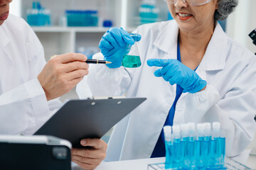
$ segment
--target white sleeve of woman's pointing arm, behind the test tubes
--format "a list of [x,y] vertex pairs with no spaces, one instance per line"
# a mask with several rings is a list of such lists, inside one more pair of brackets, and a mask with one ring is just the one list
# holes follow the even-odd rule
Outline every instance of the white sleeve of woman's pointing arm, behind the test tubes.
[[[219,121],[225,130],[226,154],[238,156],[250,144],[255,134],[256,113],[255,60],[235,79],[229,91],[220,98],[210,85],[206,90],[188,94],[177,116],[185,122],[203,123]],[[182,101],[179,102],[182,104]],[[178,113],[179,112],[179,113]]]

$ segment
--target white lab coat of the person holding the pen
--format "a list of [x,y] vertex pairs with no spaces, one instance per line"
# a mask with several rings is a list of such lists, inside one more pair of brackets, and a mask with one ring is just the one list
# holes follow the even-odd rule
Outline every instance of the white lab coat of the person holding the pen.
[[0,134],[32,135],[60,108],[46,101],[36,78],[46,64],[43,46],[23,19],[0,26]]

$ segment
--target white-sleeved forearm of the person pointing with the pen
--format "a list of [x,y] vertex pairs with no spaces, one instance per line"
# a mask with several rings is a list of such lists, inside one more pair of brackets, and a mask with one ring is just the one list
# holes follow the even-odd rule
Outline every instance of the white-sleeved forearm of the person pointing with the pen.
[[0,96],[0,134],[31,135],[49,116],[46,95],[38,79],[22,84]]

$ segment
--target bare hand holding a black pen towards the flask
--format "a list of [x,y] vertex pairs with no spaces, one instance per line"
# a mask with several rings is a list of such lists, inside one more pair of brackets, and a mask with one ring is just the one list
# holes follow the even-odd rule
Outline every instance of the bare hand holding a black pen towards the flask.
[[78,53],[67,53],[52,57],[38,75],[47,101],[63,96],[73,89],[89,73],[87,57]]

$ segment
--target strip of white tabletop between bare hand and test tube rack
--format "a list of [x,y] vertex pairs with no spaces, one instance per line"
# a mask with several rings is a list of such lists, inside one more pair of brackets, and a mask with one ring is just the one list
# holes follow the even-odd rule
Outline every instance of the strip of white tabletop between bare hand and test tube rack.
[[95,170],[147,170],[148,164],[165,162],[165,157],[154,159],[135,159],[120,162],[102,162]]

